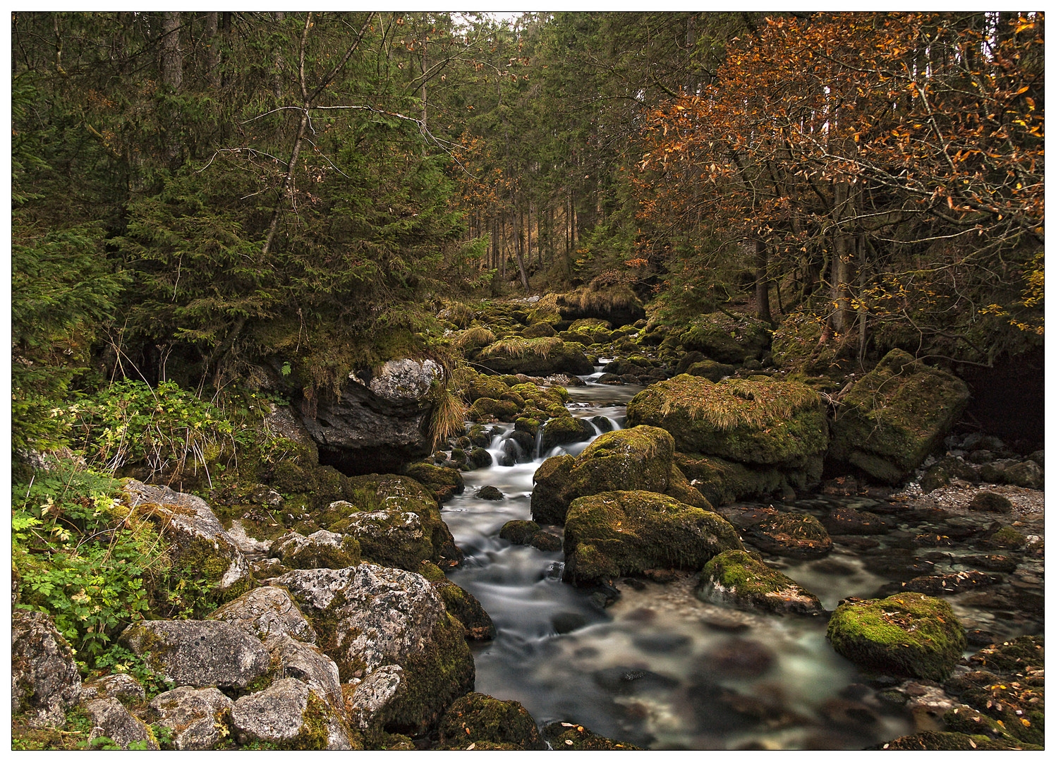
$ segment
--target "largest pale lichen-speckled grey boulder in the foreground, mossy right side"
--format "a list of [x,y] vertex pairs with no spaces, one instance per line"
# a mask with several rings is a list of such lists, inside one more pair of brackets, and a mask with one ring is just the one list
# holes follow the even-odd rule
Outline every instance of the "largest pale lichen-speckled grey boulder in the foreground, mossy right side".
[[463,627],[421,575],[361,563],[299,570],[270,581],[289,590],[313,617],[342,682],[386,665],[403,669],[407,689],[389,728],[423,729],[472,688],[475,669]]

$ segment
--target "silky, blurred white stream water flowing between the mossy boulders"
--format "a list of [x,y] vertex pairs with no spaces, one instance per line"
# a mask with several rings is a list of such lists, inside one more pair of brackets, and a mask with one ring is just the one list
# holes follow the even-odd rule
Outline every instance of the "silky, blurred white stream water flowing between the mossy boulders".
[[[585,378],[587,386],[569,389],[572,413],[623,426],[626,403],[641,387]],[[853,749],[914,731],[903,710],[881,701],[829,647],[824,617],[704,603],[693,595],[692,575],[667,584],[621,582],[622,595],[604,608],[561,581],[561,552],[499,539],[507,521],[531,518],[532,475],[542,461],[586,446],[545,453],[536,446],[518,452],[520,462],[499,465],[514,452],[510,431],[512,425],[495,427],[495,465],[467,472],[465,491],[444,509],[466,553],[448,576],[479,599],[498,631],[493,642],[474,646],[476,690],[521,702],[541,724],[576,722],[656,749]],[[505,499],[475,499],[485,485]],[[781,571],[830,610],[885,581],[840,549]]]

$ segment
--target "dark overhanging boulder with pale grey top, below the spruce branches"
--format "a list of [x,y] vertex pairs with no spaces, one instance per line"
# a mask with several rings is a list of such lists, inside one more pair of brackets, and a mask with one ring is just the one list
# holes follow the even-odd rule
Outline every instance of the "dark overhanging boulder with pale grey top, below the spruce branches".
[[301,392],[294,407],[310,411],[300,419],[323,462],[346,473],[397,470],[429,454],[429,390],[438,373],[433,360],[390,360],[372,376],[351,374],[337,395],[307,401]]

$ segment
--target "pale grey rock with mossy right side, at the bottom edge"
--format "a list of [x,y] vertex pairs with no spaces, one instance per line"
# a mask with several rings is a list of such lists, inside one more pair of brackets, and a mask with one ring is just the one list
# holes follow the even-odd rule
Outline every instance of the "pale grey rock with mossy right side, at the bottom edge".
[[352,748],[339,717],[294,677],[234,702],[231,725],[242,744],[259,740],[286,749]]

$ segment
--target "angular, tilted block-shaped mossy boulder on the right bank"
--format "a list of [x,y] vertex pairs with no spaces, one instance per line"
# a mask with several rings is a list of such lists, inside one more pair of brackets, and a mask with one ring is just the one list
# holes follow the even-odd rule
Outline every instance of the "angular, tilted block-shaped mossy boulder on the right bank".
[[891,350],[843,397],[829,459],[898,484],[960,419],[968,396],[957,376]]

